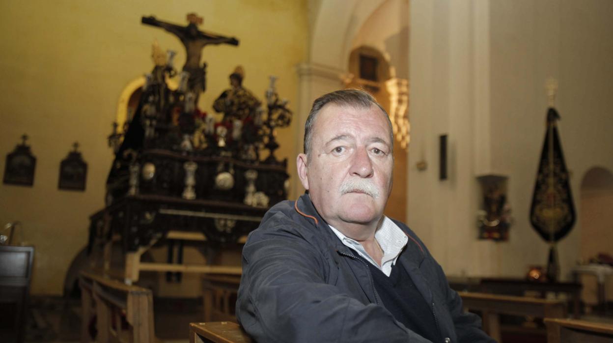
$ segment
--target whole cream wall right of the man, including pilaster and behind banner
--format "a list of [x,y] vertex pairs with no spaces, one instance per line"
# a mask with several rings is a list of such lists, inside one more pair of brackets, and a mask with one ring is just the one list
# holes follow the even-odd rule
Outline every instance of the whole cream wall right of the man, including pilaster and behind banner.
[[[411,2],[408,223],[448,275],[522,277],[528,266],[546,264],[548,247],[528,214],[545,133],[547,77],[560,83],[558,128],[576,207],[582,175],[596,165],[611,169],[612,6]],[[488,103],[482,115],[479,106]],[[440,134],[449,134],[447,180],[438,180]],[[428,163],[425,171],[416,168],[419,161]],[[476,239],[481,174],[509,178],[508,242]],[[558,244],[565,279],[579,258],[580,223],[577,218]]]

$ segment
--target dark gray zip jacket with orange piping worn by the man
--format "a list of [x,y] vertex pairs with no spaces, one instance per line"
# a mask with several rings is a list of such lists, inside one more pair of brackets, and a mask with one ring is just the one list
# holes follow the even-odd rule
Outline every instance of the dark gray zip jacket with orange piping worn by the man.
[[[441,266],[406,225],[398,265],[431,304],[446,342],[493,342],[462,310]],[[322,220],[308,195],[264,216],[243,249],[236,315],[258,342],[428,342],[383,307],[370,270]]]

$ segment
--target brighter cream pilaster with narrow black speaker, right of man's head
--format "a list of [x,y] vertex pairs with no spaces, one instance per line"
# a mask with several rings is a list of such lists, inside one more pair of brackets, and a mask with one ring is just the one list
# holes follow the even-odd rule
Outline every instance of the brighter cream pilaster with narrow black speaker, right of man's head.
[[[476,240],[471,15],[469,2],[411,2],[408,224],[456,276],[495,269],[495,246]],[[439,179],[442,134],[448,135],[446,180]]]

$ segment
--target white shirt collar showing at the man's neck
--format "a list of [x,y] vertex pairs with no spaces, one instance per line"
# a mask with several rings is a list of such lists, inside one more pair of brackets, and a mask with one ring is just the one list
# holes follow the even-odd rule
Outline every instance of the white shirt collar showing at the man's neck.
[[390,218],[384,217],[383,223],[381,226],[375,231],[375,239],[383,249],[383,258],[381,258],[381,266],[373,260],[373,258],[368,255],[362,244],[357,242],[355,239],[351,239],[345,236],[338,229],[333,228],[332,225],[329,225],[332,232],[335,233],[338,239],[343,242],[347,247],[356,251],[362,258],[372,263],[373,266],[379,268],[383,274],[389,276],[392,273],[392,266],[396,264],[396,260],[398,259],[398,255],[405,247],[406,242],[408,242],[409,238],[402,231],[402,229],[398,228]]

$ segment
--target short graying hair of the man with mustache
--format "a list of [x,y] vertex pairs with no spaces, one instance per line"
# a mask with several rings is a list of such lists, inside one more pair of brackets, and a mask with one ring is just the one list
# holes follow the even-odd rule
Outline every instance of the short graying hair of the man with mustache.
[[315,120],[319,111],[326,106],[327,104],[335,104],[338,106],[351,106],[355,109],[370,109],[370,106],[375,104],[381,112],[385,115],[387,119],[387,123],[389,124],[389,139],[392,144],[392,151],[394,150],[394,130],[392,129],[392,121],[389,119],[389,115],[381,105],[373,98],[372,95],[368,94],[364,90],[358,89],[346,89],[346,90],[338,90],[333,91],[332,93],[324,94],[317,98],[313,102],[313,107],[311,107],[311,112],[309,112],[307,117],[307,122],[305,123],[305,141],[304,141],[304,153],[306,155],[309,154],[311,150],[311,141],[313,139],[313,126],[315,125]]

